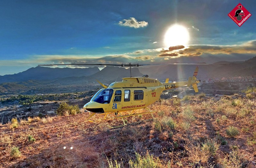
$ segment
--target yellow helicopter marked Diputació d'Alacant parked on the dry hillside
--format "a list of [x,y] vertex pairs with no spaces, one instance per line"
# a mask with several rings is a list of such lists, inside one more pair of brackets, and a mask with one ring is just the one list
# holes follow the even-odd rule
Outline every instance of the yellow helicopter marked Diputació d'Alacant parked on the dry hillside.
[[[176,64],[176,63],[173,63]],[[182,64],[182,63],[177,63]],[[52,64],[51,64],[52,65]],[[59,64],[54,64],[59,65]],[[60,64],[60,65],[113,65],[113,64]],[[142,64],[142,65],[159,65],[159,64]],[[184,64],[182,64],[184,65]],[[185,64],[185,65],[224,65],[224,64]],[[49,66],[49,65],[44,65]],[[131,67],[132,66],[141,66],[141,64],[121,64],[114,66],[129,66],[130,67],[130,77],[122,78],[122,82],[113,82],[108,87],[103,85],[100,81],[100,85],[103,87],[100,89],[90,100],[90,102],[84,105],[84,110],[91,112],[91,115],[86,119],[89,120],[95,114],[105,114],[104,119],[107,119],[108,114],[115,113],[120,114],[120,116],[114,118],[122,118],[123,125],[119,126],[108,126],[109,128],[117,128],[127,125],[124,118],[136,115],[151,114],[152,118],[149,121],[154,119],[153,112],[147,108],[152,103],[155,103],[161,93],[164,90],[175,89],[180,87],[192,87],[195,92],[198,92],[197,83],[200,81],[196,79],[198,66],[196,66],[193,77],[189,77],[188,81],[180,82],[171,82],[169,83],[169,78],[165,80],[164,83],[159,82],[157,79],[149,78],[148,75],[143,75],[142,77],[132,77]],[[142,113],[133,113],[136,109],[147,109],[147,112]],[[122,115],[121,111],[132,111],[132,114]],[[133,122],[133,123],[139,123]],[[129,123],[132,124],[132,123]]]

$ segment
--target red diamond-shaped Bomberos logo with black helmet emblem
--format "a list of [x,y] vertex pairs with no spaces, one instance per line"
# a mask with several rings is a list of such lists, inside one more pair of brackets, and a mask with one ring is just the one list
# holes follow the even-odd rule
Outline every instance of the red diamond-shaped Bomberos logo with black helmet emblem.
[[252,16],[252,14],[239,3],[231,12],[228,13],[228,16],[240,27]]

